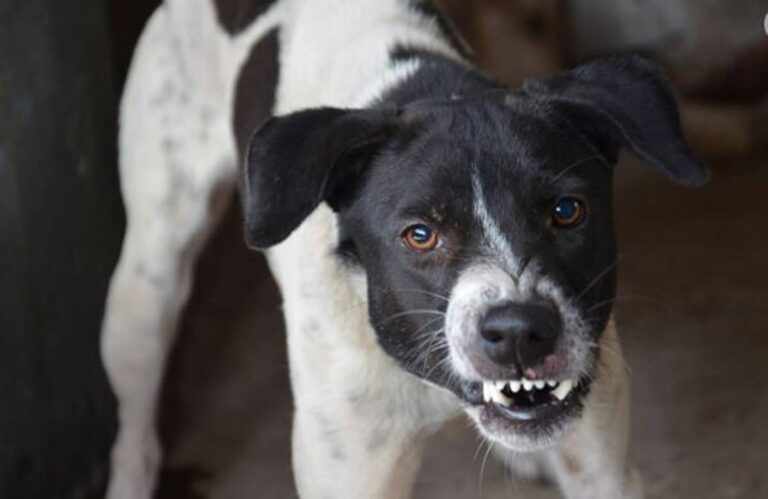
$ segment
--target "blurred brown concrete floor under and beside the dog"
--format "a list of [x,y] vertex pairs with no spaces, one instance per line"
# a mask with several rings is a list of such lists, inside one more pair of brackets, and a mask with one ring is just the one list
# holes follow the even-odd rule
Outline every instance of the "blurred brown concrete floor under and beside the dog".
[[[632,454],[650,498],[768,498],[768,161],[717,165],[688,191],[624,161],[616,199],[617,316],[633,384]],[[164,395],[158,497],[291,498],[279,299],[237,216],[215,236]],[[481,476],[462,423],[430,446],[416,498],[549,499]]]

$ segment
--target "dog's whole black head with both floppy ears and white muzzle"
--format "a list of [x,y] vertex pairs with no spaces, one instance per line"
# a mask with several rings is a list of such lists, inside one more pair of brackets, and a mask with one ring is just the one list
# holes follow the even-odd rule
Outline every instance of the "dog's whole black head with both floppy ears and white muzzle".
[[537,448],[578,416],[599,355],[621,147],[707,180],[665,80],[635,57],[521,91],[303,111],[254,136],[247,239],[276,244],[327,202],[382,348],[461,397],[486,436]]

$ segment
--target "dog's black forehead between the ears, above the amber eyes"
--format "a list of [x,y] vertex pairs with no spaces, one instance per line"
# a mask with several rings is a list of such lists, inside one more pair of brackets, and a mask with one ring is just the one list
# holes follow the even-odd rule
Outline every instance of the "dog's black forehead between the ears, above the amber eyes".
[[434,199],[466,205],[478,182],[492,191],[529,191],[595,157],[551,110],[530,102],[425,106],[419,114],[416,132],[383,154],[371,175],[389,206]]

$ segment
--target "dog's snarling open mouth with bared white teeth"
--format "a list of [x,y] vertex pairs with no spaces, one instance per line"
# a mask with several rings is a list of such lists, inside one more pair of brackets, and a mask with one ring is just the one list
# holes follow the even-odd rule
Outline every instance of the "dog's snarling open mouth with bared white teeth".
[[534,442],[576,419],[588,391],[587,378],[522,378],[469,383],[464,394],[470,413],[489,436],[505,440],[505,434],[514,434]]

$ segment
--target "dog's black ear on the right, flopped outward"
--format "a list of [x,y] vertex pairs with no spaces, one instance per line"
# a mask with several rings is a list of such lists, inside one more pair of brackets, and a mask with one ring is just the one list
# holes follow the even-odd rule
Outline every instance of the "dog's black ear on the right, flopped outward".
[[552,79],[528,80],[523,90],[554,103],[613,157],[627,147],[683,185],[709,180],[683,138],[667,79],[642,57],[600,59]]

